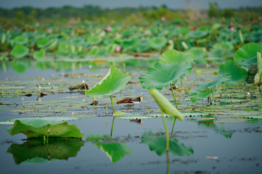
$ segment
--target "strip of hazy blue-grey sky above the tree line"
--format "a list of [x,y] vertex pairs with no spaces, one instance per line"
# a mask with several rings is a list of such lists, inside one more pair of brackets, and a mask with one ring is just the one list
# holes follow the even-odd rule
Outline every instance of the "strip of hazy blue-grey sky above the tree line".
[[98,5],[102,8],[118,7],[151,7],[167,5],[171,9],[208,9],[209,2],[218,2],[219,8],[239,8],[240,6],[262,6],[262,0],[0,0],[0,7],[15,8],[32,6],[37,8],[63,7],[71,5],[82,7],[83,5]]

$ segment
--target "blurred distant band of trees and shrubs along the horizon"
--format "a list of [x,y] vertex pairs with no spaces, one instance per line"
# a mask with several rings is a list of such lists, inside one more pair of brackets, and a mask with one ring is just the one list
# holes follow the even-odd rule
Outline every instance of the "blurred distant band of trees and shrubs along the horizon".
[[220,9],[217,2],[209,3],[207,10],[195,9],[170,9],[166,5],[160,7],[123,7],[101,8],[99,6],[85,5],[83,7],[64,6],[60,8],[33,8],[30,6],[21,8],[0,8],[1,23],[30,23],[30,22],[56,22],[70,19],[91,20],[102,23],[122,21],[135,23],[155,20],[202,20],[207,18],[232,18],[239,17],[244,20],[261,18],[262,6],[240,7],[237,9]]

